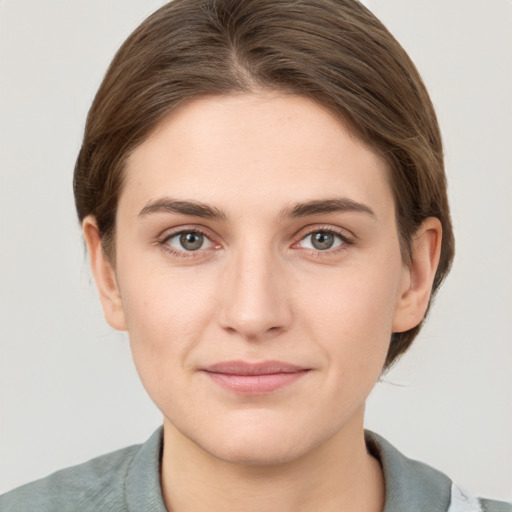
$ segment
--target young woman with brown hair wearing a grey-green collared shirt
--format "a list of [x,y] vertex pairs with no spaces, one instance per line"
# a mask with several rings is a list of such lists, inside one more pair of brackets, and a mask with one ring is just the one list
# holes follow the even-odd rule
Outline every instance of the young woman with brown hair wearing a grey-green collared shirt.
[[510,509],[363,430],[453,237],[432,105],[361,5],[166,5],[115,57],[74,188],[164,425],[2,509]]

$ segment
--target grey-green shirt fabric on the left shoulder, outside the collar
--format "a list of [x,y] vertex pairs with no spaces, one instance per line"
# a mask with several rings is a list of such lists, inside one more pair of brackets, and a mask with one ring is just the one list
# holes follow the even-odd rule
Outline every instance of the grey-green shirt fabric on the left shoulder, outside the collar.
[[0,496],[2,512],[126,510],[124,482],[141,445],[130,446]]

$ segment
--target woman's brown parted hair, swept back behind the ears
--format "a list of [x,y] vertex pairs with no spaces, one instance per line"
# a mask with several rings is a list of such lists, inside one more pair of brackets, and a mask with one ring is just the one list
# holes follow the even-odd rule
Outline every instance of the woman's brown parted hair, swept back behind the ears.
[[[454,253],[436,114],[405,50],[357,0],[174,0],[128,37],[90,108],[73,183],[79,220],[95,217],[111,262],[130,154],[184,102],[262,90],[312,99],[386,161],[404,264],[422,221],[441,221],[433,297]],[[422,323],[393,334],[385,368]]]

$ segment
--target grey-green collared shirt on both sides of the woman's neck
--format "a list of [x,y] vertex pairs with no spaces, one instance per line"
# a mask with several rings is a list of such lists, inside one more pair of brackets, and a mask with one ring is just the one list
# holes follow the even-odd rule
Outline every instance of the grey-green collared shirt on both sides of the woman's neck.
[[[23,485],[0,496],[1,512],[167,512],[160,487],[163,429],[130,446]],[[512,512],[512,504],[463,493],[436,469],[366,432],[382,466],[383,512]]]

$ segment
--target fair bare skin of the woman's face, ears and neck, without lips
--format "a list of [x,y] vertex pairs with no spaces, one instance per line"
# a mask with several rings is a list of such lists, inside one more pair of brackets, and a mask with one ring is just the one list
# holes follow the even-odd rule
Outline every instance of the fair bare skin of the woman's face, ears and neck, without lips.
[[[164,415],[169,510],[382,510],[364,404],[391,334],[423,318],[441,240],[439,221],[425,220],[403,264],[387,176],[383,160],[305,98],[203,98],[130,156],[115,268],[95,219],[84,220],[105,317],[129,332]],[[297,203],[340,198],[341,211],[289,215]],[[222,215],[176,213],[162,207],[169,199]],[[197,250],[176,234],[187,232]],[[332,246],[319,249],[312,233]],[[230,360],[308,371],[247,395],[202,371]]]

